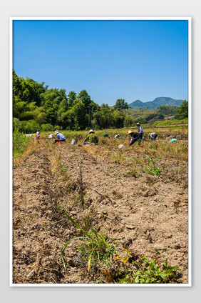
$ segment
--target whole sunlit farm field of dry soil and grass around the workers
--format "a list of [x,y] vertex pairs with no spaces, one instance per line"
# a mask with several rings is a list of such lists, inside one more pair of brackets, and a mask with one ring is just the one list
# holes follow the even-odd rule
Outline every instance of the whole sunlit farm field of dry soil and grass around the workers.
[[187,126],[143,129],[16,131],[14,283],[187,283]]

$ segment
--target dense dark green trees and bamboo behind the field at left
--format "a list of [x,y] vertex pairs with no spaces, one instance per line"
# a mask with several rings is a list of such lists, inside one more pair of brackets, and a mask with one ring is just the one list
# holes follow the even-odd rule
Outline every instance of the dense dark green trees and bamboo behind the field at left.
[[[99,106],[86,90],[70,91],[48,89],[45,82],[17,76],[13,71],[14,129],[26,133],[55,129],[107,129],[129,127],[135,124],[128,113],[128,104],[118,99],[115,106]],[[160,117],[163,118],[163,114]],[[150,117],[148,118],[150,119]],[[146,120],[148,123],[148,119]]]

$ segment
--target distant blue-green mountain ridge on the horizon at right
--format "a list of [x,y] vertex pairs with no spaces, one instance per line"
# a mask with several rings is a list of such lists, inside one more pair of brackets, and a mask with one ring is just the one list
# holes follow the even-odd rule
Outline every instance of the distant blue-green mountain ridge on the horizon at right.
[[128,107],[130,107],[130,109],[139,109],[139,107],[142,107],[143,109],[145,109],[147,107],[148,107],[148,109],[157,109],[157,107],[160,105],[180,106],[182,104],[182,101],[184,101],[184,100],[172,99],[172,98],[168,98],[165,96],[160,96],[158,98],[155,98],[153,101],[148,101],[148,102],[142,102],[140,100],[135,100],[132,103],[128,104]]

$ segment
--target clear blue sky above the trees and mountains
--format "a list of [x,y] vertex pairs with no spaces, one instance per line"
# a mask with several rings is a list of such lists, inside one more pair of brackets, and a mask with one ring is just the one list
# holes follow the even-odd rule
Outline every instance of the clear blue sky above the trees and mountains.
[[99,105],[187,99],[187,20],[14,20],[13,68]]

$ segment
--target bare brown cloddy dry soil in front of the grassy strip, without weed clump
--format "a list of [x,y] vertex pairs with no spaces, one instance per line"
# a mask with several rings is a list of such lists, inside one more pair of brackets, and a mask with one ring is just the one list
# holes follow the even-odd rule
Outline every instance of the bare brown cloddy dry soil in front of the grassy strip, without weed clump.
[[[89,224],[118,239],[119,247],[180,267],[176,283],[188,282],[188,197],[184,184],[128,170],[93,154],[98,146],[67,142],[42,145],[13,169],[13,283],[91,284],[98,279],[78,265],[78,252],[69,240]],[[107,279],[105,279],[107,283]]]

